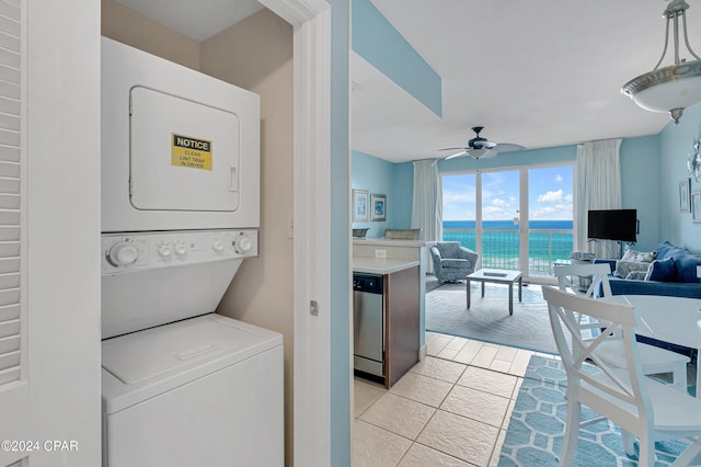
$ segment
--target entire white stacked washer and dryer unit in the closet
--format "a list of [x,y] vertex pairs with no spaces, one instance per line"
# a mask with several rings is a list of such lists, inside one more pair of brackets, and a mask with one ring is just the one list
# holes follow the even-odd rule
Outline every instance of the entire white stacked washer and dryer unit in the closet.
[[258,96],[103,38],[105,466],[284,464],[283,338],[214,312],[258,227]]

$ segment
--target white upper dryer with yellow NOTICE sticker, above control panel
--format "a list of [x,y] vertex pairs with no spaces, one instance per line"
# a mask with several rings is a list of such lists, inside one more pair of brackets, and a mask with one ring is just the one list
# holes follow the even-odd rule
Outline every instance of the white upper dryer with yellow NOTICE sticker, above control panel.
[[260,96],[102,38],[102,231],[260,226]]

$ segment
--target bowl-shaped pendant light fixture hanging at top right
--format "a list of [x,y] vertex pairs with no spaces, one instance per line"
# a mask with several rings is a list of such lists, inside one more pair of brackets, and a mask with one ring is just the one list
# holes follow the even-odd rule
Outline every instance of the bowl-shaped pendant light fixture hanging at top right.
[[[668,112],[679,123],[683,110],[701,102],[701,58],[691,49],[687,37],[687,10],[683,0],[671,0],[663,18],[667,20],[665,48],[655,68],[623,86],[621,92],[641,107],[651,112]],[[679,27],[683,31],[683,43],[694,60],[679,58]],[[669,26],[674,29],[674,65],[659,68],[669,45]]]

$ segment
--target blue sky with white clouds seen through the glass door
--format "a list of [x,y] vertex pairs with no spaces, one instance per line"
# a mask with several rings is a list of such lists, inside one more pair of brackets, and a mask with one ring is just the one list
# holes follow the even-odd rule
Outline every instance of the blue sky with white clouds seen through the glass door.
[[[529,169],[530,220],[572,220],[572,166]],[[519,210],[518,170],[482,172],[482,219],[512,220]],[[474,220],[475,174],[443,176],[443,219]]]

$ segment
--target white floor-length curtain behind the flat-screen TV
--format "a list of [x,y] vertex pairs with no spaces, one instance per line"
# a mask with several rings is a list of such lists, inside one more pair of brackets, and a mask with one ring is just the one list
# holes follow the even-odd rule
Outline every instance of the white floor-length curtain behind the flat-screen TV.
[[596,253],[597,258],[617,258],[619,252],[618,242],[587,241],[587,213],[621,208],[620,147],[620,139],[577,146],[574,249]]

